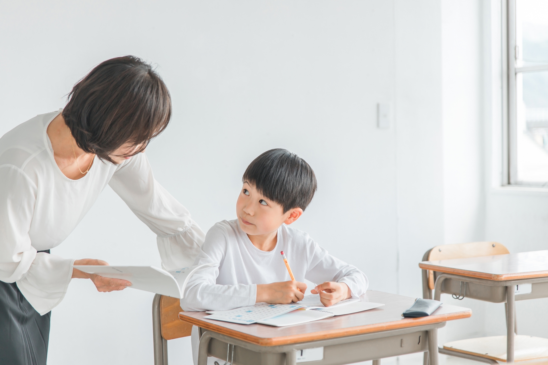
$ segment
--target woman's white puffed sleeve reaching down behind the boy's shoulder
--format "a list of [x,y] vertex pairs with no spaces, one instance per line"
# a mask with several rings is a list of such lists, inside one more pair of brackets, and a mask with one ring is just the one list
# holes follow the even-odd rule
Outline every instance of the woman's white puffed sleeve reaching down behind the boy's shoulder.
[[109,185],[157,235],[164,269],[192,265],[205,235],[189,211],[155,180],[144,153],[138,153],[121,164]]

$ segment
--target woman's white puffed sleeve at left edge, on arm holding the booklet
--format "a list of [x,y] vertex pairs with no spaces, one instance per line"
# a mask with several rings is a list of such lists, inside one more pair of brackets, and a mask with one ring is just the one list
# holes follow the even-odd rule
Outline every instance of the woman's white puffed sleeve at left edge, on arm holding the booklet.
[[44,315],[65,297],[72,259],[36,253],[28,236],[34,214],[36,185],[13,165],[0,166],[0,280],[19,290]]

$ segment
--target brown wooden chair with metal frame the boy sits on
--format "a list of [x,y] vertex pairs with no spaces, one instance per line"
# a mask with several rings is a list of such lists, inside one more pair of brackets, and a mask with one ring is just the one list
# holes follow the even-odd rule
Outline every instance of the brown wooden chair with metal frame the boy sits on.
[[177,298],[156,294],[152,300],[154,365],[168,365],[168,341],[190,336],[192,325],[179,319],[182,312]]

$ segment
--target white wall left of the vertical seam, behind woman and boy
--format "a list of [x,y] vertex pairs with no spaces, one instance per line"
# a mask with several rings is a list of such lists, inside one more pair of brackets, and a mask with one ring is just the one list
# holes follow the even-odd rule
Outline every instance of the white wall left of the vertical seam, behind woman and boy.
[[[172,124],[147,155],[158,181],[204,230],[234,217],[242,173],[256,155],[288,148],[319,181],[296,227],[366,272],[372,288],[397,291],[396,154],[404,151],[396,148],[395,128],[376,129],[375,113],[379,101],[399,105],[395,69],[404,55],[395,56],[395,32],[410,37],[403,26],[411,14],[385,1],[3,2],[2,8],[0,133],[64,106],[71,86],[100,61],[144,57],[157,63],[174,107]],[[420,66],[419,56],[414,62]],[[421,101],[413,77],[398,76],[412,102]],[[429,85],[427,79],[421,90]],[[420,124],[420,114],[413,118]],[[109,188],[53,253],[116,264],[159,261],[155,237]],[[90,282],[74,280],[52,314],[49,363],[151,363],[151,301],[152,294],[97,293]],[[170,341],[172,361],[189,363],[188,345]]]

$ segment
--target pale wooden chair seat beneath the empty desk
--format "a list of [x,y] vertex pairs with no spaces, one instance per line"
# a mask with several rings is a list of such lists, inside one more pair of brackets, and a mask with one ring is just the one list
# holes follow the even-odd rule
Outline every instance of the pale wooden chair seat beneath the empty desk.
[[[506,336],[451,341],[443,344],[443,348],[506,362]],[[515,362],[548,358],[548,338],[516,335],[514,354]]]

